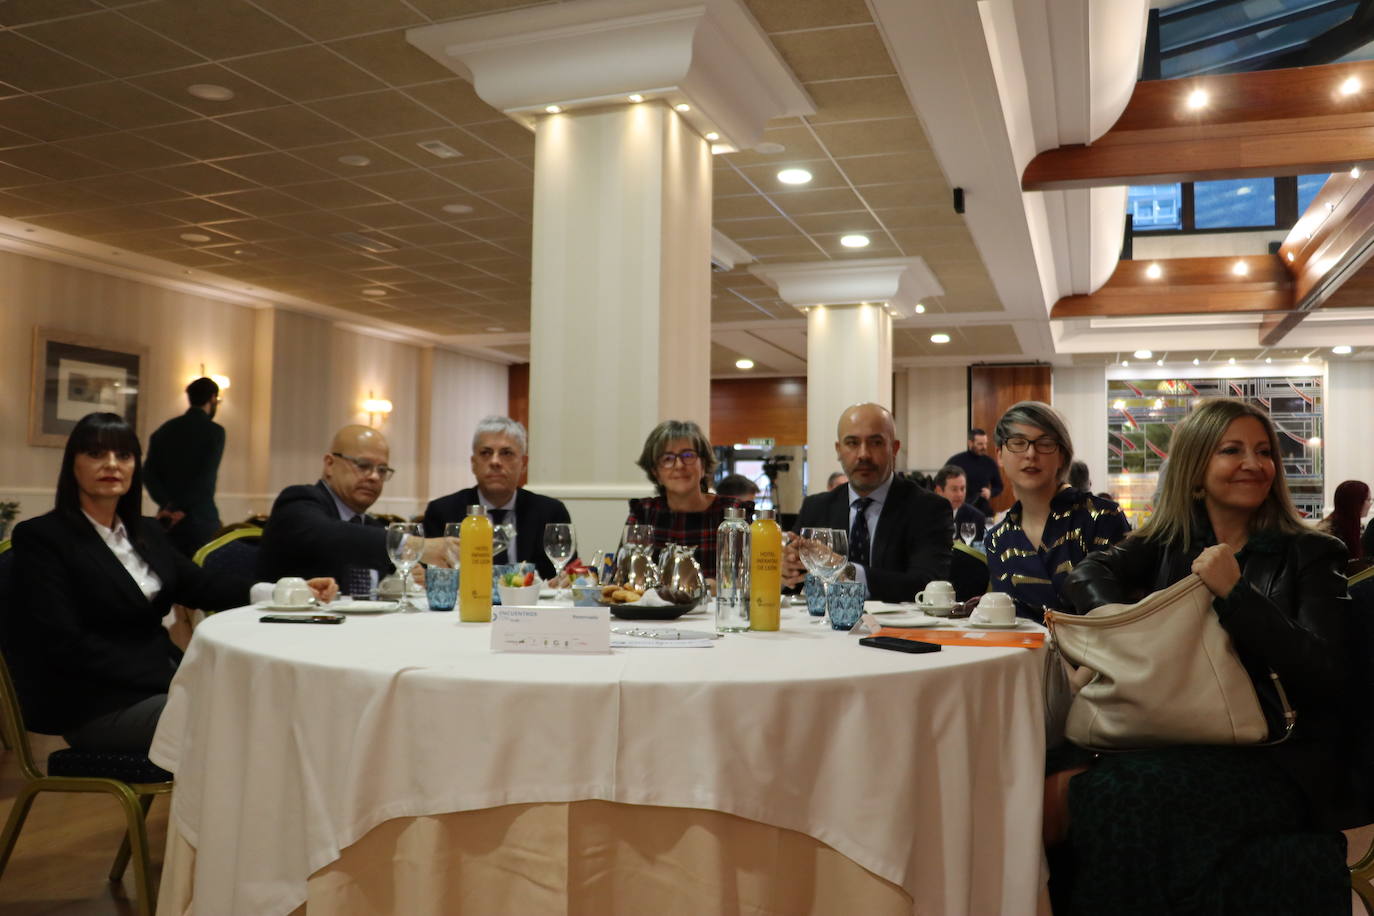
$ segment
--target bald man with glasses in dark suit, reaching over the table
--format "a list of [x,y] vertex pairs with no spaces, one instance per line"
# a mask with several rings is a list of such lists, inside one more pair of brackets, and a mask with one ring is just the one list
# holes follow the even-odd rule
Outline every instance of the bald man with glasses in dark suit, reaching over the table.
[[[367,509],[396,472],[386,438],[368,426],[334,434],[324,468],[313,485],[289,486],[272,504],[258,548],[258,577],[330,575],[349,595],[371,595],[390,574],[386,523]],[[448,566],[444,538],[425,540],[422,562]]]

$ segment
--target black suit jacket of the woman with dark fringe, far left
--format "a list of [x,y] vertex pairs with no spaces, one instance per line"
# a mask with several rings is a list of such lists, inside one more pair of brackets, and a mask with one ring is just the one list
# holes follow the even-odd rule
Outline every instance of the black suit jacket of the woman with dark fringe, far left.
[[84,515],[52,511],[14,529],[15,593],[0,634],[32,731],[60,735],[166,694],[181,658],[162,628],[173,602],[214,611],[249,603],[250,581],[202,570],[154,519],[142,519],[140,533],[139,552],[162,580],[151,602]]

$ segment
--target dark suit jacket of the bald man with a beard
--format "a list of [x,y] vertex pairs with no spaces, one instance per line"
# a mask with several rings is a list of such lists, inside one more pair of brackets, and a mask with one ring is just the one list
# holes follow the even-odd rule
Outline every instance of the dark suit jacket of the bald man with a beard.
[[[808,526],[849,530],[849,488],[808,496],[794,531]],[[949,500],[894,478],[872,533],[868,595],[878,602],[910,602],[932,580],[949,578],[954,511]]]

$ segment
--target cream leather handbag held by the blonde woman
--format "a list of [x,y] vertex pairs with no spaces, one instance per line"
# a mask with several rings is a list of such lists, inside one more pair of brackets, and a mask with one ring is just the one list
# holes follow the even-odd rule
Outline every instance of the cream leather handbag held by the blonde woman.
[[[1103,604],[1085,615],[1048,611],[1046,625],[1069,662],[1091,680],[1069,706],[1065,733],[1074,744],[1129,750],[1169,744],[1260,744],[1270,726],[1231,637],[1197,575],[1135,604]],[[1297,714],[1278,674],[1285,731]],[[1085,672],[1070,677],[1083,683]]]

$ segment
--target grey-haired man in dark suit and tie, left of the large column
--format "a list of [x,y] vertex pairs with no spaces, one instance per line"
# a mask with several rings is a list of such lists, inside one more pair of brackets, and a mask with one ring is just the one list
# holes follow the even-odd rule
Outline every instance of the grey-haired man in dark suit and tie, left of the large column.
[[[425,536],[441,537],[447,522],[462,522],[469,505],[485,505],[492,525],[510,522],[515,540],[493,558],[496,563],[533,563],[543,578],[552,578],[554,564],[544,555],[544,526],[572,522],[567,507],[550,496],[519,485],[529,466],[525,427],[508,416],[488,416],[473,433],[473,475],[477,486],[449,493],[425,509]],[[514,558],[514,559],[511,559]]]

